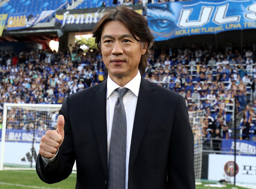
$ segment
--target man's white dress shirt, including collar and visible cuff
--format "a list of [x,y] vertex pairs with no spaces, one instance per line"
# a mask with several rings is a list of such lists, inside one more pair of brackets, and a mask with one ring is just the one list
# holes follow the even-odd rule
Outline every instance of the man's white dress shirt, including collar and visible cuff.
[[[126,138],[126,176],[125,176],[125,189],[128,189],[128,174],[129,174],[129,157],[130,157],[130,149],[131,149],[131,135],[133,129],[133,122],[135,117],[135,110],[140,90],[141,84],[141,74],[138,71],[137,75],[131,79],[131,81],[124,86],[124,88],[129,89],[125,96],[123,97],[123,103],[125,106],[125,115],[126,115],[126,124],[127,124],[127,138]],[[121,88],[118,84],[114,83],[114,81],[108,77],[107,80],[107,137],[108,137],[108,162],[109,162],[109,147],[110,147],[110,139],[111,139],[111,131],[112,131],[112,123],[114,116],[114,105],[118,97],[118,92],[115,89]],[[58,150],[59,152],[59,150]],[[56,155],[58,154],[56,153]],[[56,155],[47,159],[42,157],[45,166],[52,162]]]

